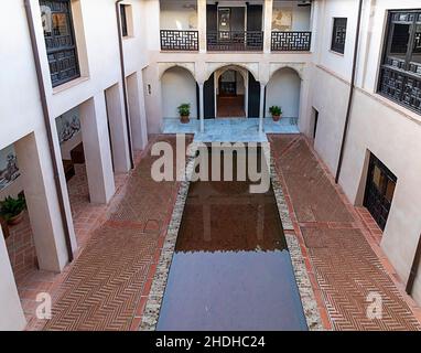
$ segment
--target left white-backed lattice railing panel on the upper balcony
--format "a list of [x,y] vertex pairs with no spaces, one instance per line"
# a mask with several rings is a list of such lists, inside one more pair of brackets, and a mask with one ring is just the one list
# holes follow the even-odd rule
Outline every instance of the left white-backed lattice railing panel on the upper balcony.
[[198,31],[161,30],[162,51],[198,51]]

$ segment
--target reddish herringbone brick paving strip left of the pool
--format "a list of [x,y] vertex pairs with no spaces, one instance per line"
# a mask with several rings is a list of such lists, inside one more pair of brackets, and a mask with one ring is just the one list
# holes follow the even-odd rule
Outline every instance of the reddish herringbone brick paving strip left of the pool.
[[[159,139],[175,149],[174,137]],[[179,188],[176,181],[152,180],[154,160],[144,153],[131,173],[108,220],[94,232],[58,289],[44,330],[136,329]]]

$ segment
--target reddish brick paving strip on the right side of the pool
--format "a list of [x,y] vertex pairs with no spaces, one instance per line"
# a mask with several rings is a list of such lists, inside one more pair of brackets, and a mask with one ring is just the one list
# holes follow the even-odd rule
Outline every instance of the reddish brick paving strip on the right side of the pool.
[[[325,327],[419,330],[420,310],[381,253],[369,214],[348,203],[303,137],[269,139]],[[382,319],[367,318],[370,292],[381,296]]]

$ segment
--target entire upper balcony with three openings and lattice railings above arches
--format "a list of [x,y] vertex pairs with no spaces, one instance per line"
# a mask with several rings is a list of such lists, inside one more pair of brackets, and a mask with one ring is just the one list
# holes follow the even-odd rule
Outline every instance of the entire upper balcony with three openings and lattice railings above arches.
[[[164,52],[310,52],[311,6],[273,1],[270,36],[265,47],[265,2],[229,3],[207,2],[198,8],[196,0],[161,0],[161,50]],[[199,10],[206,13],[199,15]],[[206,18],[206,25],[198,32],[198,19]],[[270,19],[268,19],[270,21]],[[206,34],[206,42],[205,41]],[[199,44],[203,43],[203,44]],[[270,44],[270,47],[269,47]],[[206,47],[199,47],[206,45]]]

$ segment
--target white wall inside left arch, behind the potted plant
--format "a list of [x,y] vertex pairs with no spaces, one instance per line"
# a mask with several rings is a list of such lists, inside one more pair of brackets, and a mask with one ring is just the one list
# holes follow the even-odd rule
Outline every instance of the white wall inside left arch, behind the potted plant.
[[191,104],[191,118],[197,118],[196,82],[188,71],[182,67],[168,69],[161,86],[164,118],[179,118],[177,107],[183,103]]

